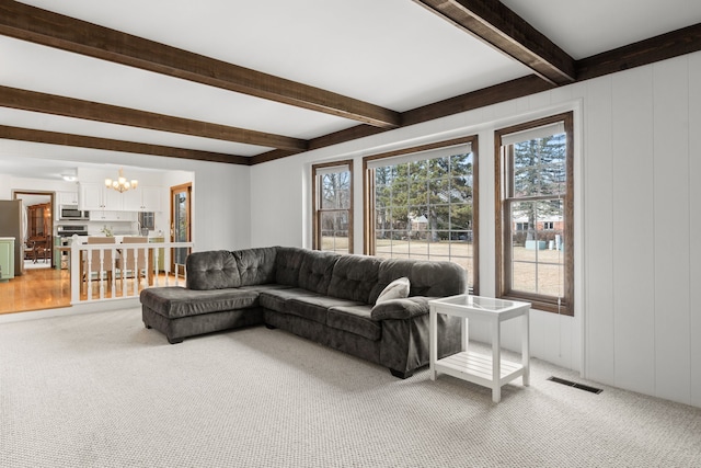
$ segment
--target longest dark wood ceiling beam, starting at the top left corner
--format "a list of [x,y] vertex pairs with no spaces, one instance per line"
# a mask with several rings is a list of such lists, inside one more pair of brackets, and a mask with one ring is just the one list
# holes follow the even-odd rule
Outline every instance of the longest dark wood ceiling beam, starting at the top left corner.
[[0,34],[379,127],[399,113],[12,0],[0,0]]

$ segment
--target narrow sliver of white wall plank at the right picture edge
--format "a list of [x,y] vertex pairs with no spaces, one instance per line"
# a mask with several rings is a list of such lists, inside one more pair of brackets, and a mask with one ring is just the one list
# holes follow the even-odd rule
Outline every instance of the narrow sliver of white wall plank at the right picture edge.
[[689,56],[689,180],[690,403],[701,407],[701,53]]

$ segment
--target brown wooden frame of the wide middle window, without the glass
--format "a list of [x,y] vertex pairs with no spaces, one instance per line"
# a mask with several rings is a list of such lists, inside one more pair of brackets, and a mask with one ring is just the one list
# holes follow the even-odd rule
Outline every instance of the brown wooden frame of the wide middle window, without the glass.
[[[480,288],[480,191],[479,191],[479,138],[476,135],[459,137],[449,140],[402,148],[393,151],[370,155],[363,158],[363,252],[366,255],[375,255],[375,170],[368,168],[370,161],[393,158],[422,151],[430,151],[450,146],[470,144],[472,152],[472,267],[468,272],[472,277],[471,294],[479,294]],[[430,158],[428,158],[430,159]]]

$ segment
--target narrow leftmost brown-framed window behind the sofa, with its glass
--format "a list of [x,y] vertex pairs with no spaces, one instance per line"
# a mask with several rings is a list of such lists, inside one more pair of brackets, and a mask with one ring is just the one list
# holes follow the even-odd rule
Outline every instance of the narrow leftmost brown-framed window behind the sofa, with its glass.
[[312,165],[313,248],[353,253],[353,161]]

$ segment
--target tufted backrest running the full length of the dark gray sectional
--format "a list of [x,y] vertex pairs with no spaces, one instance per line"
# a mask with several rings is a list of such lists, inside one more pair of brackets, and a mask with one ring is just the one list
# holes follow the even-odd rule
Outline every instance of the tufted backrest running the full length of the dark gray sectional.
[[277,283],[375,304],[382,289],[402,276],[410,281],[410,296],[452,296],[468,288],[467,272],[451,262],[382,260],[290,247],[192,253],[186,287],[223,289]]

